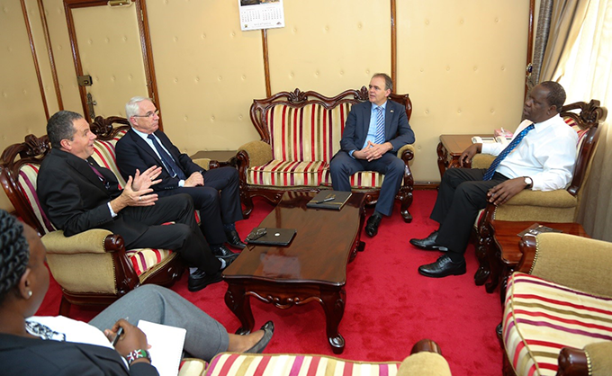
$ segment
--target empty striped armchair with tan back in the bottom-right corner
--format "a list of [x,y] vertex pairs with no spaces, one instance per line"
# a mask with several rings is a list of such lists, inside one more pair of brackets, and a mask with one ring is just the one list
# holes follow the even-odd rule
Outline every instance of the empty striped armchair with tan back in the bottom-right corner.
[[[506,294],[505,375],[612,375],[612,243],[525,236]],[[558,373],[557,373],[558,372]]]

